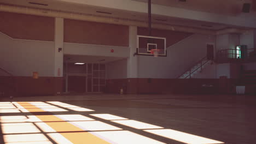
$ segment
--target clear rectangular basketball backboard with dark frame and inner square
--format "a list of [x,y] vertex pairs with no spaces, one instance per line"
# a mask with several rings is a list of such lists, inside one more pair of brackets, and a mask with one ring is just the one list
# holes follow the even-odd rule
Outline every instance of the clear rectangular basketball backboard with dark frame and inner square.
[[152,50],[158,50],[158,56],[166,57],[166,38],[137,35],[135,55],[154,56]]

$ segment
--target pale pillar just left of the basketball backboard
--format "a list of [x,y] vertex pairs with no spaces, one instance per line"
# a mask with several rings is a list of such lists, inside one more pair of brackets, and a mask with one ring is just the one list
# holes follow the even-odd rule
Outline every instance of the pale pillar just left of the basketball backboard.
[[127,58],[127,93],[137,93],[138,56],[133,56],[137,49],[137,27],[129,27],[129,57]]

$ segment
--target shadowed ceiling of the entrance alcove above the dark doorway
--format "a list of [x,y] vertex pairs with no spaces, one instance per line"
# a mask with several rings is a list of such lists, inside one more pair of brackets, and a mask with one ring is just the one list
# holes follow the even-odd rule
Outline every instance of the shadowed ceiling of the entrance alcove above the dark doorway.
[[109,63],[124,59],[123,57],[104,57],[104,56],[80,56],[65,55],[64,62],[68,63]]

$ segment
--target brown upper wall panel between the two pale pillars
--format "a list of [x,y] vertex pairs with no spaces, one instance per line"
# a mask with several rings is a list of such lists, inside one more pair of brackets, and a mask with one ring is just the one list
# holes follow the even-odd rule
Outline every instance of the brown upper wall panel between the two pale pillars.
[[65,19],[64,41],[79,44],[129,46],[129,27]]

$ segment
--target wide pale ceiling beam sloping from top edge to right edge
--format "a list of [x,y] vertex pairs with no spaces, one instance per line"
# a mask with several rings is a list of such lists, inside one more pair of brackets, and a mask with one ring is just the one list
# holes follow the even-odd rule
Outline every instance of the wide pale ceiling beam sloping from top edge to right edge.
[[[126,11],[133,11],[137,13],[148,13],[147,1],[138,2],[131,0],[53,0],[59,2],[67,2],[73,4],[84,4],[91,5],[94,7],[110,8],[110,9],[119,9]],[[241,5],[242,8],[242,5]],[[161,15],[167,17],[177,17],[181,19],[196,20],[196,21],[206,21],[220,23],[224,25],[239,26],[239,27],[248,27],[256,28],[256,19],[255,13],[239,13],[235,16],[228,16],[222,14],[213,14],[206,13],[202,11],[175,8],[166,5],[152,4],[152,15]]]

